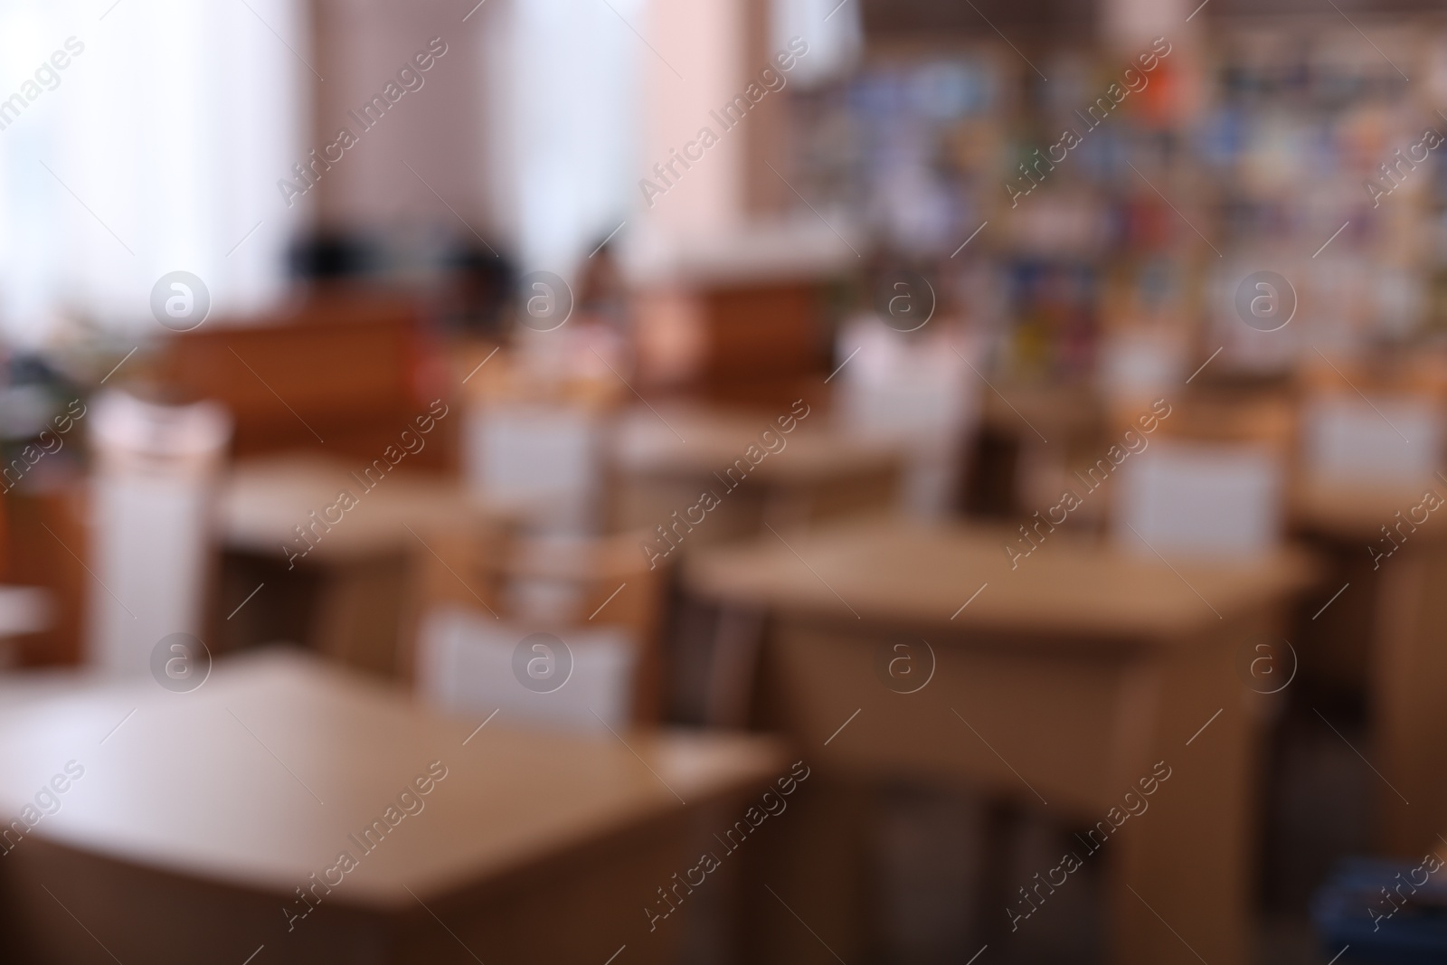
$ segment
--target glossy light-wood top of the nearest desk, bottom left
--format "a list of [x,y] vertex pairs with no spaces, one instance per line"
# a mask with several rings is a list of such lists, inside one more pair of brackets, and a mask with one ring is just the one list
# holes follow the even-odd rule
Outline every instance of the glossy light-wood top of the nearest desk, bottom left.
[[[486,884],[787,770],[764,738],[544,734],[437,716],[404,692],[269,651],[191,693],[149,677],[0,679],[0,815],[84,768],[32,835],[120,861],[291,897],[401,907]],[[627,741],[627,744],[625,744]],[[446,771],[427,794],[401,791]],[[389,817],[388,807],[396,810]],[[353,838],[391,822],[375,851]],[[17,845],[25,848],[22,839]]]

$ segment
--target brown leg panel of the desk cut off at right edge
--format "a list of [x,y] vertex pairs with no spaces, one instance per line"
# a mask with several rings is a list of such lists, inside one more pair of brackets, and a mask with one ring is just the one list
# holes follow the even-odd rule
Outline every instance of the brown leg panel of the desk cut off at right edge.
[[[1421,858],[1447,832],[1447,547],[1386,561],[1370,667],[1378,845]],[[1391,781],[1391,786],[1388,786]]]

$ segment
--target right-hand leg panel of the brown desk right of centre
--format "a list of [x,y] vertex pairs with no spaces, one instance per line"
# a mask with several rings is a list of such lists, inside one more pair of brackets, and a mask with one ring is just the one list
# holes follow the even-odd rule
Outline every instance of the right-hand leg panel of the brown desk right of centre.
[[1143,671],[1159,687],[1156,736],[1130,783],[1149,777],[1158,761],[1171,771],[1142,799],[1147,809],[1100,846],[1108,862],[1110,961],[1120,965],[1247,961],[1257,728],[1233,671],[1243,632],[1192,641]]

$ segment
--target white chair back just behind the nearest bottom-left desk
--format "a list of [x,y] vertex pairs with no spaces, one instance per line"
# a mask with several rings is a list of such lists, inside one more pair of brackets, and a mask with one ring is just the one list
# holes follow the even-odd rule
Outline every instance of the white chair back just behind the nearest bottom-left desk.
[[566,731],[628,726],[637,648],[627,632],[556,634],[567,644],[573,673],[551,693],[534,693],[514,676],[514,650],[532,632],[483,611],[437,606],[423,619],[417,641],[418,689],[453,713],[485,718],[501,710],[499,718]]

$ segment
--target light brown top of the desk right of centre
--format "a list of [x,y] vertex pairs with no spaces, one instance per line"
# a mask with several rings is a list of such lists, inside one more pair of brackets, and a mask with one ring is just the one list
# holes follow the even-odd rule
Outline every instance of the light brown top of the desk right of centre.
[[[702,596],[792,613],[959,631],[1171,639],[1279,602],[1315,567],[1298,550],[1265,558],[1169,563],[1051,534],[1011,561],[1004,528],[874,518],[768,534],[700,551],[686,580]],[[977,596],[978,592],[978,596]]]

